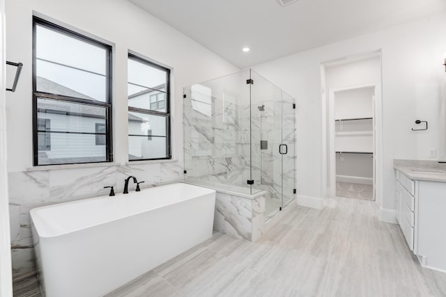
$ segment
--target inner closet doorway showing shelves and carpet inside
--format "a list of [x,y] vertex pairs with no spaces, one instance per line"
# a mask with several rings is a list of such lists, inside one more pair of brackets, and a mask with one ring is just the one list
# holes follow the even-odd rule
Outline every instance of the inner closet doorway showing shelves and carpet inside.
[[375,90],[374,85],[330,90],[332,196],[375,200]]

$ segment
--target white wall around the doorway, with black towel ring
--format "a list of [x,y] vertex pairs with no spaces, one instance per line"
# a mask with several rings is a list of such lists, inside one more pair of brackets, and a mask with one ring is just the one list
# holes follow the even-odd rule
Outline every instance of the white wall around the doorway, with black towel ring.
[[[383,207],[394,209],[393,159],[426,159],[445,137],[439,127],[445,37],[441,13],[253,67],[297,99],[298,193],[322,195],[321,63],[381,49]],[[429,130],[410,131],[417,119],[429,121]]]

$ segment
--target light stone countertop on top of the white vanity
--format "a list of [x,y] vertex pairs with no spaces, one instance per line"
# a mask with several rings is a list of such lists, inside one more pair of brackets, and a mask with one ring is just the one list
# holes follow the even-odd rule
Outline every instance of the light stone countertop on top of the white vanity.
[[424,160],[394,160],[394,168],[410,179],[446,182],[446,163]]

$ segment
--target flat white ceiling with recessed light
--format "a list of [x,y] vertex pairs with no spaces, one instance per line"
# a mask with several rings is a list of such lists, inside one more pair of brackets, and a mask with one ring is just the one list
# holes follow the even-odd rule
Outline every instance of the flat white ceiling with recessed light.
[[446,10],[445,0],[130,1],[240,68]]

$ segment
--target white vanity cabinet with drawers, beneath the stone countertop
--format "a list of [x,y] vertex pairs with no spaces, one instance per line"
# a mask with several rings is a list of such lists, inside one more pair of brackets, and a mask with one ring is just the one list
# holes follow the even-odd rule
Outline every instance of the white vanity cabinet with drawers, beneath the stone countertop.
[[422,266],[446,272],[446,182],[410,179],[396,170],[395,211]]

